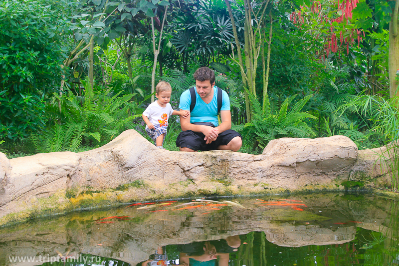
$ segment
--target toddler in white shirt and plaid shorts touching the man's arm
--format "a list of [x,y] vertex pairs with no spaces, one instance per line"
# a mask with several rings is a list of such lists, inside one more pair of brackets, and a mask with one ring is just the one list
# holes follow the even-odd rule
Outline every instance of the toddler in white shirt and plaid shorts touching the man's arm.
[[172,87],[169,82],[160,81],[155,87],[155,96],[158,98],[150,104],[143,112],[143,120],[147,124],[146,132],[152,138],[157,148],[164,149],[162,144],[166,136],[168,119],[171,115],[181,115],[184,118],[190,116],[189,111],[176,111],[169,103],[171,100]]

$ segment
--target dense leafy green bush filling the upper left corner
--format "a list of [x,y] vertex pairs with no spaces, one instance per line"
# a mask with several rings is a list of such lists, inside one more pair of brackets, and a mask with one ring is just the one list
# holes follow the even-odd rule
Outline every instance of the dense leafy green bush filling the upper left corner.
[[61,80],[72,4],[0,2],[0,138],[15,141],[44,126],[44,102]]

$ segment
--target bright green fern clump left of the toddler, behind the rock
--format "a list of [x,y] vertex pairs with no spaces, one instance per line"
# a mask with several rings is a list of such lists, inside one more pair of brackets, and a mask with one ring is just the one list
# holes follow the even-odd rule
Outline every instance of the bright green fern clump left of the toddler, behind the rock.
[[[129,123],[141,114],[134,115],[136,104],[129,102],[134,94],[112,97],[94,94],[86,80],[84,98],[72,93],[62,97],[61,124],[55,123],[42,135],[32,135],[32,141],[41,152],[77,151],[81,144],[109,142],[130,127]],[[83,100],[83,102],[82,102]],[[51,109],[51,108],[50,108]],[[57,113],[57,109],[53,112]]]

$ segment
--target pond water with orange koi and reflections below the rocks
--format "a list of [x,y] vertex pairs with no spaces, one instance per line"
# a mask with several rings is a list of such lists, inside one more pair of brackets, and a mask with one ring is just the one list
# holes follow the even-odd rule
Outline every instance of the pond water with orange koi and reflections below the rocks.
[[0,265],[399,264],[398,201],[369,194],[286,197],[143,202],[35,219],[0,228]]

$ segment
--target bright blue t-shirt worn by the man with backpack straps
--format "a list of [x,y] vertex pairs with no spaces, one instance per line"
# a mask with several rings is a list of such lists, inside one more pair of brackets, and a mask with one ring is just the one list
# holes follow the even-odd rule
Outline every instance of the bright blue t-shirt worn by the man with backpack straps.
[[[197,88],[194,87],[196,92],[196,106],[191,112],[190,123],[196,122],[211,122],[215,127],[219,125],[219,121],[217,120],[217,90],[219,88],[213,86],[213,98],[210,103],[205,103],[200,95],[197,93]],[[186,90],[180,95],[180,104],[179,109],[190,111],[191,104],[191,94],[190,90]],[[221,103],[221,111],[230,110],[230,99],[228,98],[227,92],[222,90],[222,103]]]

